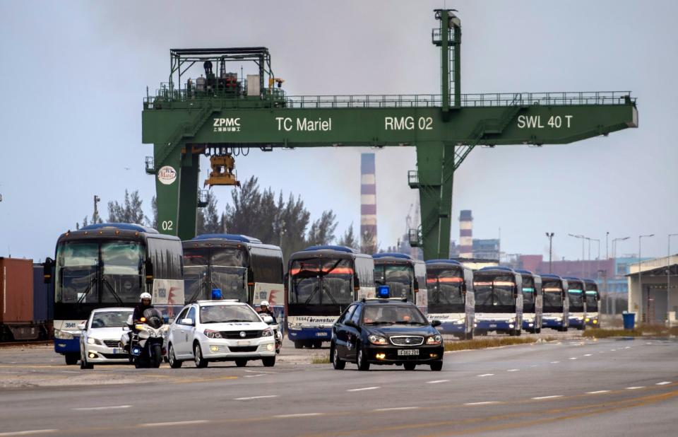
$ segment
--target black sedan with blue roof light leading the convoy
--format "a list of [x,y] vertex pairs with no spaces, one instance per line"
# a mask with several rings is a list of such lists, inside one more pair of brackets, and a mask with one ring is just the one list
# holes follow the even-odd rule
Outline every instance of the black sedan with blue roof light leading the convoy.
[[401,299],[354,302],[332,328],[330,359],[337,370],[350,361],[360,371],[370,364],[402,364],[408,371],[427,364],[440,371],[444,347],[438,325],[439,320],[429,323],[419,308]]

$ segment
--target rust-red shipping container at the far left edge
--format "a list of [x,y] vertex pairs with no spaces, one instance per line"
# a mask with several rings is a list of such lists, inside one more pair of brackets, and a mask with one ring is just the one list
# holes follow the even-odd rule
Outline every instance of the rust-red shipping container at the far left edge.
[[33,260],[0,257],[0,324],[33,321]]

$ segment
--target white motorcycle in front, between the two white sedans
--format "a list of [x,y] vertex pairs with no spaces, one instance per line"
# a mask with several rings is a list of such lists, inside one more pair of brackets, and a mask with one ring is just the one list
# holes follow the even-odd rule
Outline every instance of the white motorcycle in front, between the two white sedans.
[[128,320],[131,335],[124,334],[121,342],[129,351],[129,361],[136,368],[158,368],[165,355],[165,337],[169,325],[165,324],[162,313],[155,308],[143,312],[140,323],[133,325]]

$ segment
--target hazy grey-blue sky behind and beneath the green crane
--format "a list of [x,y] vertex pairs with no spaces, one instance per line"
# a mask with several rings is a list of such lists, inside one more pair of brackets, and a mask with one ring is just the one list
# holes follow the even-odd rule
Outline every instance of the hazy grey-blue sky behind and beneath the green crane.
[[[2,1],[0,256],[52,255],[59,233],[140,190],[141,107],[169,74],[170,47],[264,45],[291,95],[439,93],[432,9],[443,1]],[[453,216],[472,209],[475,238],[502,250],[581,257],[576,233],[631,236],[618,255],[666,255],[678,233],[678,13],[675,1],[447,1],[463,26],[464,93],[632,91],[639,129],[567,146],[477,148],[455,176]],[[339,231],[360,221],[359,153],[319,148],[237,158],[239,177],[300,194]],[[208,161],[201,162],[203,176]],[[294,173],[290,167],[304,168]],[[130,170],[125,168],[129,167]],[[376,151],[379,241],[393,245],[416,198],[414,148]],[[219,204],[230,188],[213,188]],[[516,203],[515,197],[519,202]],[[328,201],[328,199],[330,199]],[[518,205],[518,206],[516,206]],[[578,213],[575,215],[575,213]],[[452,235],[458,240],[458,221]],[[678,252],[678,238],[674,238]],[[597,252],[593,243],[592,255]]]

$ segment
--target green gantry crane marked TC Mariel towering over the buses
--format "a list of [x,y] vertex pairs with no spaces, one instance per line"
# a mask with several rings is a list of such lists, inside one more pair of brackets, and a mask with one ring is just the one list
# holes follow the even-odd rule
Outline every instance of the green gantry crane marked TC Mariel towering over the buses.
[[[250,147],[414,146],[408,184],[420,192],[422,223],[409,230],[410,244],[423,247],[425,260],[448,258],[454,171],[475,146],[568,144],[638,127],[629,92],[462,94],[460,19],[454,10],[434,12],[440,95],[289,96],[266,47],[171,49],[169,83],[147,93],[142,112],[143,143],[154,145],[146,172],[156,176],[159,231],[194,237],[202,154],[213,168],[206,185],[238,185],[234,156]],[[258,74],[239,77],[229,62],[254,62]],[[182,83],[196,63],[204,76]]]

